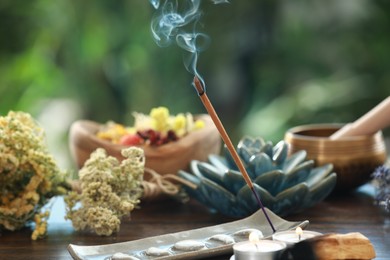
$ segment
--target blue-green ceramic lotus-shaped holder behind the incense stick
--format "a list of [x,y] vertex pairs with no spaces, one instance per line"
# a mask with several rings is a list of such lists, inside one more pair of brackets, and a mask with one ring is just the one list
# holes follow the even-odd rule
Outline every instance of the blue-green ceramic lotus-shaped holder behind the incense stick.
[[[304,150],[288,155],[285,141],[273,146],[262,138],[244,137],[237,152],[263,205],[278,215],[313,206],[336,185],[332,164],[314,167]],[[226,148],[224,156],[210,154],[208,162],[193,160],[190,172],[180,170],[178,175],[195,184],[196,188],[183,186],[190,197],[224,215],[244,217],[259,209]]]

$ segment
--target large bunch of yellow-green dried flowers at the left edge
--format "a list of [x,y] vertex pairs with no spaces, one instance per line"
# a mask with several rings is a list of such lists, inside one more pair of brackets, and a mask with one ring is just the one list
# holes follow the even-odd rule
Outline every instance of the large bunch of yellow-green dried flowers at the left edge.
[[45,236],[48,200],[70,188],[45,146],[44,130],[31,115],[0,117],[0,228],[17,230],[35,222],[32,239]]

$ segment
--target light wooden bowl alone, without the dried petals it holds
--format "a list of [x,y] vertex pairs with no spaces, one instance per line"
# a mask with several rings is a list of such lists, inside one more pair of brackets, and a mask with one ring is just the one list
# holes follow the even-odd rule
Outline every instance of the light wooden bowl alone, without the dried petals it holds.
[[[176,142],[161,146],[139,145],[145,152],[145,167],[160,174],[176,174],[178,170],[188,169],[191,160],[206,161],[209,154],[219,154],[221,138],[217,128],[208,115],[197,115],[196,119],[205,122],[205,127],[180,138]],[[122,160],[124,145],[113,144],[96,136],[99,123],[79,120],[72,124],[69,133],[69,146],[73,159],[81,168],[90,154],[101,147],[107,154]]]

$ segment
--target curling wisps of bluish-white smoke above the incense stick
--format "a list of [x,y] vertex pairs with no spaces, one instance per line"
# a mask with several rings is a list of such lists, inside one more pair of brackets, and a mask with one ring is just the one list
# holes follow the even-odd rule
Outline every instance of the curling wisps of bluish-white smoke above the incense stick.
[[[167,47],[176,43],[189,52],[185,67],[199,78],[206,91],[206,85],[197,71],[199,53],[205,50],[210,42],[206,34],[195,31],[202,14],[199,9],[201,0],[164,0],[162,4],[160,0],[149,1],[157,10],[151,23],[153,38],[157,45]],[[228,3],[228,0],[212,1],[215,4]]]

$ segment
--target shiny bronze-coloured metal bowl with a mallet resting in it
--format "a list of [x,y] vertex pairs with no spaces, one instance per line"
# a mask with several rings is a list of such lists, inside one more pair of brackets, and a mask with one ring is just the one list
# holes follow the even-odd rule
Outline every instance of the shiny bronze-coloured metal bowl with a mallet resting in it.
[[370,179],[375,168],[387,158],[382,132],[351,136],[339,140],[328,137],[340,129],[339,124],[302,125],[289,129],[285,141],[289,152],[305,150],[316,165],[333,164],[337,173],[335,191],[350,191]]

